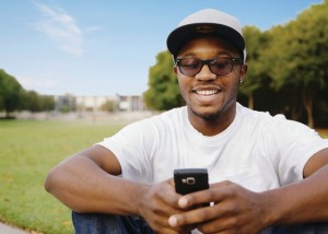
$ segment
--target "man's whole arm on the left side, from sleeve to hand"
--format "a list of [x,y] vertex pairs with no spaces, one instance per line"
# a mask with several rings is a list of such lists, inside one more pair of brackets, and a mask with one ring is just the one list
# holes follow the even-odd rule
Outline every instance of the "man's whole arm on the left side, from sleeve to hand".
[[[57,165],[47,176],[46,189],[77,212],[136,214],[143,217],[157,233],[181,233],[167,220],[180,213],[173,179],[144,185],[117,177],[117,157],[101,145],[81,151]],[[190,230],[190,227],[187,227]]]

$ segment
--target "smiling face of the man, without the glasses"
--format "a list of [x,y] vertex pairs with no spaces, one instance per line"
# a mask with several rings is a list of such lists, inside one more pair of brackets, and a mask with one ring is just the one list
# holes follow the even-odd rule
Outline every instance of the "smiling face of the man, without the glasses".
[[[225,40],[218,37],[200,37],[189,40],[179,51],[177,58],[211,59],[215,57],[239,58],[238,51]],[[213,70],[213,69],[212,69]],[[189,118],[218,120],[235,114],[236,96],[239,81],[245,79],[247,67],[234,62],[229,74],[218,75],[208,65],[194,77],[174,71],[178,78],[179,89],[186,101]],[[186,72],[185,72],[186,73]]]

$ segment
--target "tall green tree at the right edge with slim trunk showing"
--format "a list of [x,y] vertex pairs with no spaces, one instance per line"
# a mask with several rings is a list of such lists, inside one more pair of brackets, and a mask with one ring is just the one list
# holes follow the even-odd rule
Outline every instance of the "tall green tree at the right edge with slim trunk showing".
[[272,87],[288,91],[294,94],[298,103],[303,103],[307,125],[311,127],[315,124],[315,94],[328,85],[327,11],[327,0],[324,4],[313,5],[303,11],[283,28],[274,30],[273,44],[270,45],[270,60],[274,62],[271,67]]

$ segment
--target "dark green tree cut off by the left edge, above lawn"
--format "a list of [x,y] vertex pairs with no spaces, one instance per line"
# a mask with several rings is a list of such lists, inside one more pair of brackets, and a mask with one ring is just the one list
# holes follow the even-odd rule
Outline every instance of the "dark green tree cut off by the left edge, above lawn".
[[0,69],[0,110],[5,112],[5,117],[10,118],[12,112],[19,109],[21,105],[22,85],[16,79]]

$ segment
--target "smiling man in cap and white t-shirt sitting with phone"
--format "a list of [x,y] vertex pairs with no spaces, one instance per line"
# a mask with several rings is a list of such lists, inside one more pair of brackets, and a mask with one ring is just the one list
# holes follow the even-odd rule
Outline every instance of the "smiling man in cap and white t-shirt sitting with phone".
[[[46,179],[77,233],[282,233],[328,221],[328,141],[236,103],[247,72],[238,21],[196,12],[167,47],[186,107],[125,127]],[[189,167],[208,168],[210,188],[181,196],[173,169]]]

